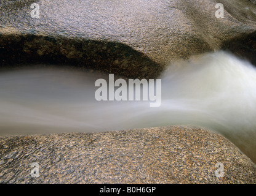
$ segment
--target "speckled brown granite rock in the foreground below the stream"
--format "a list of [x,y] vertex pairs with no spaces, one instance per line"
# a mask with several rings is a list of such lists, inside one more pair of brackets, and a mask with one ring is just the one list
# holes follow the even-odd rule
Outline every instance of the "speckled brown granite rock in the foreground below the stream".
[[197,127],[0,137],[0,183],[256,183],[256,165]]

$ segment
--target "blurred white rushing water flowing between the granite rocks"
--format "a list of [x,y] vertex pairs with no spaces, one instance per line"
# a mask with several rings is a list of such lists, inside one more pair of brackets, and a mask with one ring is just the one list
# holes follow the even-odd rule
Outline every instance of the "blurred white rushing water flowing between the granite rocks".
[[225,135],[256,160],[256,69],[218,51],[172,64],[158,108],[147,101],[95,100],[108,75],[44,68],[0,73],[0,135],[101,132],[168,125]]

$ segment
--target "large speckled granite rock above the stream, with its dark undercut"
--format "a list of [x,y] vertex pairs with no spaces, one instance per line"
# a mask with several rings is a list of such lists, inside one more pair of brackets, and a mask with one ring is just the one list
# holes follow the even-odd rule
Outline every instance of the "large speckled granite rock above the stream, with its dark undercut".
[[[30,15],[33,2],[40,18]],[[215,17],[213,0],[2,0],[0,64],[65,62],[154,78],[174,59],[226,48],[255,32],[252,2],[218,2],[224,18]]]

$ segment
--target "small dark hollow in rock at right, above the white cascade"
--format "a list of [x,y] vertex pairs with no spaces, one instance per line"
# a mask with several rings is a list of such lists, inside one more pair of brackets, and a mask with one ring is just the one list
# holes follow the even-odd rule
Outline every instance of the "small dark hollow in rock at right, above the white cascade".
[[222,43],[221,48],[246,59],[256,66],[256,32],[226,40]]

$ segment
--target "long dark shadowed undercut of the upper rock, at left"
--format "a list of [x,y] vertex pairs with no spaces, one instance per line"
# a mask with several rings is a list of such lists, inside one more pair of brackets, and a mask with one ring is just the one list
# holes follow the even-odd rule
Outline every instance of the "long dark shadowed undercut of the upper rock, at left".
[[0,34],[0,67],[68,64],[127,78],[156,78],[164,66],[124,43],[32,34]]

